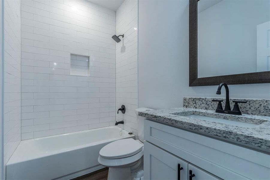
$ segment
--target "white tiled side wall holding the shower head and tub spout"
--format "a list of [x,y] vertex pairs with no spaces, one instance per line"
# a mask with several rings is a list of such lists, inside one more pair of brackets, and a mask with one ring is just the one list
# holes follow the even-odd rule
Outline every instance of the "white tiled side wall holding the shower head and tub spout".
[[124,39],[116,44],[116,109],[124,104],[126,113],[116,114],[116,120],[124,120],[124,125],[119,126],[135,136],[138,136],[137,28],[138,0],[125,0],[116,11],[116,33],[124,34]]

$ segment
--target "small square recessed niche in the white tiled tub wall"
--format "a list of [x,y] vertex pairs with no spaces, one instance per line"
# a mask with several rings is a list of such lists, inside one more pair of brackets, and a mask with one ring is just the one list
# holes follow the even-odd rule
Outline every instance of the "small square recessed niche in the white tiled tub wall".
[[70,75],[89,76],[89,56],[70,54]]

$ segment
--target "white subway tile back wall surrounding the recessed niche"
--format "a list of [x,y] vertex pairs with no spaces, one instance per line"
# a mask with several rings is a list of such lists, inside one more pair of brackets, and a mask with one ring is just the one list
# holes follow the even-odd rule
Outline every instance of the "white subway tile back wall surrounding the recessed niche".
[[[22,140],[115,123],[115,11],[86,0],[22,0]],[[70,74],[70,54],[89,76]]]

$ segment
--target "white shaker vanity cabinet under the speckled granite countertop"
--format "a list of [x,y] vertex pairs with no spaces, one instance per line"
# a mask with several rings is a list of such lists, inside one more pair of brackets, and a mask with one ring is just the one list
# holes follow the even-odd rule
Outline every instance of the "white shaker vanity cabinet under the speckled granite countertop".
[[270,179],[270,155],[144,120],[144,179]]

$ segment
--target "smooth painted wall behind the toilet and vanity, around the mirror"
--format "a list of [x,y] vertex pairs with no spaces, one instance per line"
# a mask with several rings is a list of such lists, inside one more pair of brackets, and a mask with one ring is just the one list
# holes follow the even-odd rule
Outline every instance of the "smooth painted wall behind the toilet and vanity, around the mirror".
[[[182,107],[183,97],[225,97],[188,86],[188,1],[138,2],[139,107]],[[229,85],[232,98],[270,99],[270,84]]]

